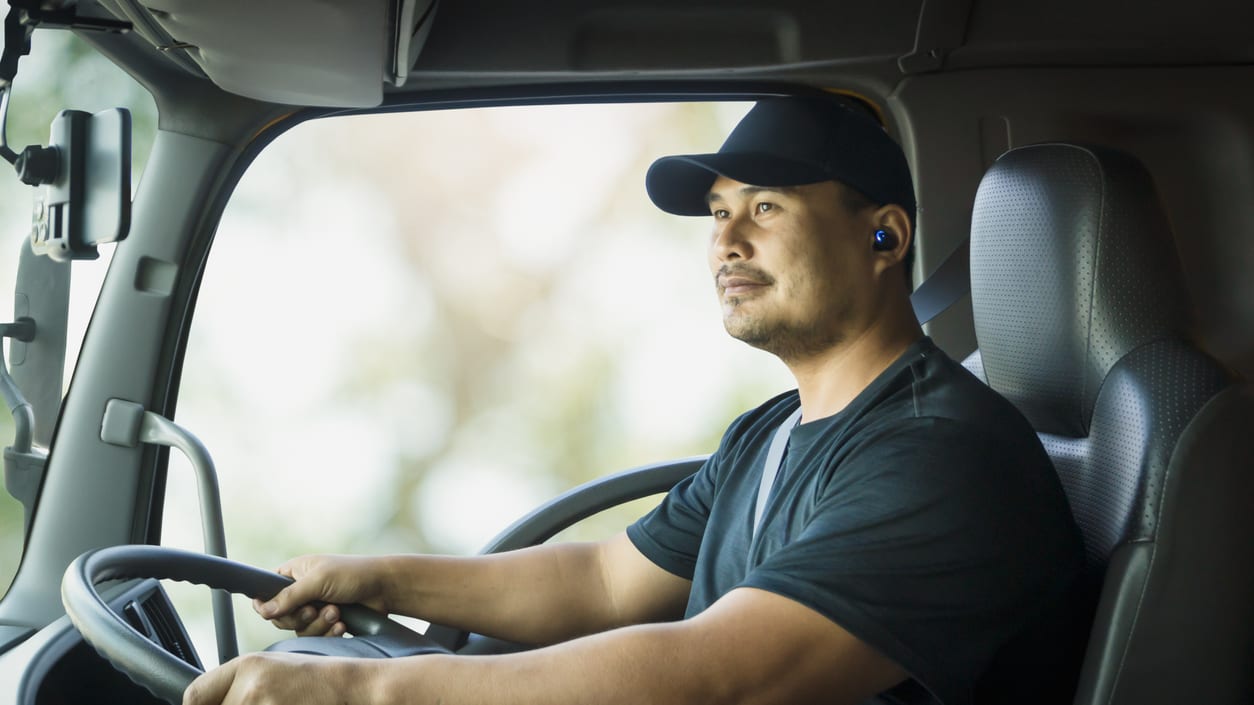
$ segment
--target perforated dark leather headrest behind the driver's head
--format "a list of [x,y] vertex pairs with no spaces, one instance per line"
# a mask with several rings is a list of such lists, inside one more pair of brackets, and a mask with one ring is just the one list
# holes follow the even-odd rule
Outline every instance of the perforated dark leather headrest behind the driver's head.
[[1170,226],[1141,163],[1076,144],[1003,154],[976,196],[971,300],[989,386],[1038,432],[1087,435],[1106,373],[1186,325]]

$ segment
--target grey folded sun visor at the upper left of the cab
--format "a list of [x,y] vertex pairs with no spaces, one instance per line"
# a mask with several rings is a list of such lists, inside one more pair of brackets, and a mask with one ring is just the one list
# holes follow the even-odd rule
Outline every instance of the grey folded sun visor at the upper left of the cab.
[[223,90],[271,103],[369,108],[382,102],[384,83],[405,82],[436,0],[113,4],[132,20],[147,15],[135,23],[140,34],[184,53]]

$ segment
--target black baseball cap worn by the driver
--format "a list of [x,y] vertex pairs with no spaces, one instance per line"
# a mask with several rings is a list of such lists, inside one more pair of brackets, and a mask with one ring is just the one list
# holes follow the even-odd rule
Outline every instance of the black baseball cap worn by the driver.
[[648,168],[645,188],[667,213],[709,216],[706,194],[719,176],[767,187],[839,181],[914,220],[914,184],[900,146],[865,110],[836,98],[760,100],[719,152],[662,157]]

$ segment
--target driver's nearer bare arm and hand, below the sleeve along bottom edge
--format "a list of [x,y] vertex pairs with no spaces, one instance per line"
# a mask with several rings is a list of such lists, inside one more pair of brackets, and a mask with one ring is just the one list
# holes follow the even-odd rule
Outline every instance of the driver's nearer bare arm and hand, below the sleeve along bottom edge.
[[853,705],[905,677],[897,664],[809,607],[739,588],[687,621],[624,627],[523,654],[391,661],[252,655],[197,680],[184,704],[300,697],[466,705]]

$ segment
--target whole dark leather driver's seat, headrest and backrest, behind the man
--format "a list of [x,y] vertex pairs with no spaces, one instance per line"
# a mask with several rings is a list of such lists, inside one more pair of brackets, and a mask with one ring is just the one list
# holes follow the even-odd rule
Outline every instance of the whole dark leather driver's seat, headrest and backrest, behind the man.
[[972,216],[979,350],[1032,423],[1100,591],[1077,705],[1254,702],[1254,393],[1189,340],[1171,230],[1135,158],[1002,156]]

